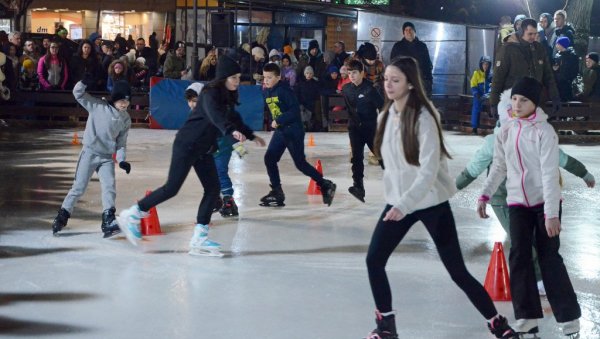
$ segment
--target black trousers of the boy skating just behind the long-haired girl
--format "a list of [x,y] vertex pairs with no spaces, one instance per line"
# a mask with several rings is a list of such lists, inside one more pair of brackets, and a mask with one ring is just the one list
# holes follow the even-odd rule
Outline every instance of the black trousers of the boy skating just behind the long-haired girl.
[[352,149],[352,158],[350,158],[350,163],[352,163],[352,180],[354,184],[360,187],[363,187],[363,178],[365,176],[365,165],[363,163],[365,159],[365,145],[369,147],[371,152],[373,151],[376,130],[377,123],[348,127],[348,136],[350,137],[350,147]]

